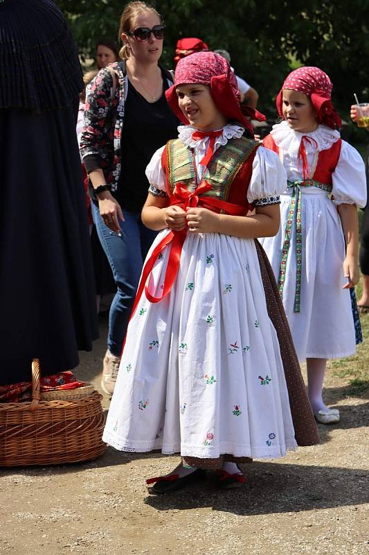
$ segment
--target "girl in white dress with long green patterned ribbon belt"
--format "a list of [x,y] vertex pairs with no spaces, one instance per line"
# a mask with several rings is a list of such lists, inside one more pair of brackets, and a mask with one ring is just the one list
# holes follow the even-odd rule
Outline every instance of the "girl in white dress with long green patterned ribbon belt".
[[298,358],[307,361],[314,415],[324,424],[339,421],[338,409],[322,398],[327,359],[352,355],[355,332],[361,332],[359,319],[352,319],[350,288],[359,280],[357,206],[366,205],[363,161],[340,138],[331,91],[321,69],[292,71],[277,96],[284,121],[263,141],[279,153],[288,185],[280,197],[280,230],[262,244]]

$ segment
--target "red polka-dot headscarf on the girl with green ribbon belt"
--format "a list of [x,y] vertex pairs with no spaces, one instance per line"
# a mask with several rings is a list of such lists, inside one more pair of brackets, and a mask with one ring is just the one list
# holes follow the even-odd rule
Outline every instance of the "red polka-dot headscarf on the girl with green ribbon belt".
[[324,123],[332,129],[340,127],[341,118],[331,101],[332,87],[330,78],[318,67],[299,67],[291,71],[278,93],[276,101],[278,114],[283,117],[282,92],[283,89],[289,89],[303,92],[309,97],[314,106],[318,123]]

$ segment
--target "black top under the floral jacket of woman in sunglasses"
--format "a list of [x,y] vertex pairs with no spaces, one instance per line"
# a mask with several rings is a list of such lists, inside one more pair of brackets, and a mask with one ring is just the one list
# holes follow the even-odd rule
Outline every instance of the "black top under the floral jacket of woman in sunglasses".
[[174,116],[164,91],[169,88],[163,77],[163,94],[150,103],[129,82],[125,101],[124,123],[121,137],[122,166],[115,198],[128,212],[141,212],[147,198],[149,182],[145,169],[154,152],[169,139],[178,136],[178,119]]

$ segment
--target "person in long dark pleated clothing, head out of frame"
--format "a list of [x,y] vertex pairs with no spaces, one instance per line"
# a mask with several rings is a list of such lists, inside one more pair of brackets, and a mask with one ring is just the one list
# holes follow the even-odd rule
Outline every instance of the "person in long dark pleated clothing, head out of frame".
[[[0,384],[78,366],[98,337],[75,123],[78,53],[50,0],[0,3]],[[29,63],[32,53],[32,64]]]

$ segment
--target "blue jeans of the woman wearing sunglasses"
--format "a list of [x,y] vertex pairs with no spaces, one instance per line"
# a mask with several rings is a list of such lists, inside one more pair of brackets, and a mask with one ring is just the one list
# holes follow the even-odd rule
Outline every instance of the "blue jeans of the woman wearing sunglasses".
[[120,357],[143,260],[157,232],[145,228],[141,214],[123,210],[125,221],[120,221],[122,237],[118,237],[105,225],[98,207],[94,204],[92,212],[98,237],[109,260],[117,287],[109,312],[107,346],[113,355]]

